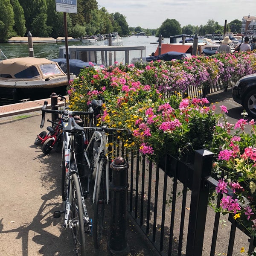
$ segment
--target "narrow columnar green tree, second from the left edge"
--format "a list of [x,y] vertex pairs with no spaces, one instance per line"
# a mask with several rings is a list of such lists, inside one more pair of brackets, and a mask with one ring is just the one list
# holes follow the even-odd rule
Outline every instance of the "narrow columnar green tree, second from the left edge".
[[20,3],[18,0],[10,0],[10,3],[12,5],[12,9],[14,12],[14,30],[19,36],[24,36],[26,33],[26,20],[24,16],[23,8],[20,6]]

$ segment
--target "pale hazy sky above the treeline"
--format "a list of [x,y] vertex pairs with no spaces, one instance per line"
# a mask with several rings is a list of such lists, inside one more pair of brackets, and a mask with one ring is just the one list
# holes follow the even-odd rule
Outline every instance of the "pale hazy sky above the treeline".
[[256,17],[256,0],[97,0],[108,13],[119,12],[128,26],[157,29],[166,19],[177,20],[181,27],[206,25],[208,20],[224,26],[244,16]]

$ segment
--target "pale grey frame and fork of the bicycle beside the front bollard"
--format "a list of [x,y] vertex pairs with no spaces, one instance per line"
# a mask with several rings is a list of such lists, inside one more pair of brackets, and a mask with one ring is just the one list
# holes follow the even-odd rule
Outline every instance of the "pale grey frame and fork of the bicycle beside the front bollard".
[[[88,156],[88,151],[90,148],[90,145],[93,142],[99,142],[100,141],[100,145],[99,145],[99,151],[98,151],[98,155],[96,158],[96,162],[93,163],[93,166],[91,166],[90,163],[90,159]],[[95,193],[96,193],[96,184],[97,184],[97,180],[98,180],[98,175],[99,175],[99,160],[100,158],[104,157],[105,158],[105,162],[106,164],[106,188],[107,188],[107,204],[109,202],[109,186],[108,186],[108,181],[109,181],[109,170],[108,170],[108,134],[105,133],[105,131],[94,131],[93,135],[84,151],[84,157],[87,161],[88,166],[90,167],[90,169],[93,168],[93,178],[95,178],[95,184],[94,184],[94,189],[93,189],[93,203],[95,201]]]

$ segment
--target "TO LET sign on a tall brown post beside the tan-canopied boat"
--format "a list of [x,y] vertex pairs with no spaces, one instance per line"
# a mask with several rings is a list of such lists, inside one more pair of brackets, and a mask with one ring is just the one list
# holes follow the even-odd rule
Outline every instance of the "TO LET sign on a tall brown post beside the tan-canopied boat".
[[67,62],[67,81],[70,81],[69,52],[67,43],[67,12],[77,13],[76,0],[55,0],[56,12],[63,12],[64,30],[65,30],[65,46],[66,46],[66,62]]

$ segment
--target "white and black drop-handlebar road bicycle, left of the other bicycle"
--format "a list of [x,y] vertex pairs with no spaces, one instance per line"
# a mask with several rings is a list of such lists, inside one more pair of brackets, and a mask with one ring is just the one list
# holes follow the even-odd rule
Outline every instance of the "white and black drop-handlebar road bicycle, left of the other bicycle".
[[47,110],[47,102],[41,108],[41,126],[44,126],[45,113],[59,113],[63,115],[63,156],[61,187],[64,201],[64,211],[55,211],[53,217],[59,218],[61,213],[65,213],[64,228],[69,227],[73,234],[73,241],[76,254],[85,255],[85,233],[92,233],[92,220],[89,218],[87,208],[82,193],[79,169],[76,163],[76,134],[82,134],[84,128],[78,125],[72,115],[92,115],[88,112],[64,110]]

